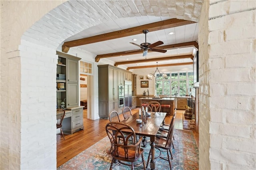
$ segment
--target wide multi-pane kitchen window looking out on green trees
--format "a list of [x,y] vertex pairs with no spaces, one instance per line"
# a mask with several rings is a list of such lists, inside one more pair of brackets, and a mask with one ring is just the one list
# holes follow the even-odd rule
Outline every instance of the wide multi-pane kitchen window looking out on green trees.
[[[159,74],[156,74],[158,76]],[[188,95],[193,88],[193,72],[166,73],[156,78],[156,95]]]

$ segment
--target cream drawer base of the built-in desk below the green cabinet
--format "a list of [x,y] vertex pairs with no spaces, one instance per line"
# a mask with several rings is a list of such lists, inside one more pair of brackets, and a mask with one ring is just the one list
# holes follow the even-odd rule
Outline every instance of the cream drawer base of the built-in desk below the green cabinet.
[[67,115],[62,122],[63,132],[67,134],[73,134],[78,130],[84,129],[83,107],[71,107],[68,109],[69,110],[67,110]]

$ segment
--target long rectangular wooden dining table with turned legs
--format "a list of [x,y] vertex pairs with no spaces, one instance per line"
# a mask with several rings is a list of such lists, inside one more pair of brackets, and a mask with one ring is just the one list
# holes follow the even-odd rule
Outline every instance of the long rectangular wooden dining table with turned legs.
[[[133,114],[128,119],[124,119],[122,123],[126,123],[130,125],[136,135],[139,136],[148,136],[150,137],[150,145],[151,145],[151,153],[152,158],[150,161],[150,168],[152,170],[155,169],[155,140],[156,140],[156,134],[162,125],[164,118],[166,116],[165,112],[150,112],[150,116],[146,116],[146,119],[144,119],[144,116],[139,116],[139,112]],[[142,119],[142,123],[137,123],[136,119]]]

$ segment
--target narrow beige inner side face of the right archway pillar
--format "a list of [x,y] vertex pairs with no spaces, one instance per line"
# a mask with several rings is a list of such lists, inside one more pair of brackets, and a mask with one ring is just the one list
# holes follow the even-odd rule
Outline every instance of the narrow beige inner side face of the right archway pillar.
[[210,148],[210,136],[209,136],[209,122],[210,122],[210,111],[209,111],[209,89],[208,83],[208,8],[209,1],[205,1],[201,15],[199,18],[199,34],[198,34],[198,45],[199,45],[199,169],[210,170],[209,160],[209,148]]

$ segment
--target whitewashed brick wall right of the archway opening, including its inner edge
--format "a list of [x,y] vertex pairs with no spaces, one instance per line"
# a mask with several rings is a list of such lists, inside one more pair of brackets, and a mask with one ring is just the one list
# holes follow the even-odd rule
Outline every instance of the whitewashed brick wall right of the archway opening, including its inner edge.
[[255,16],[250,0],[202,8],[200,22],[208,25],[199,27],[208,36],[200,30],[200,169],[256,169]]

